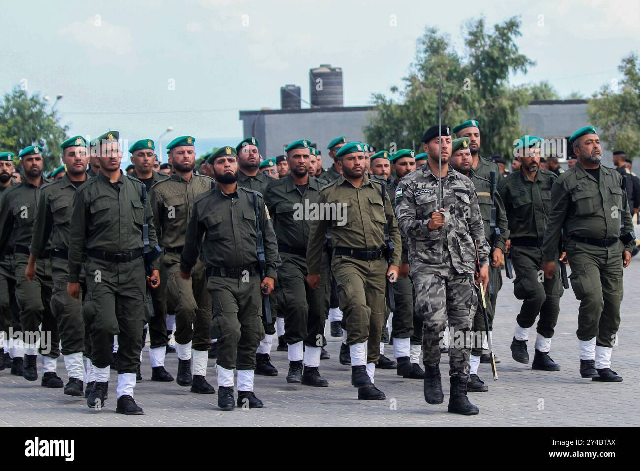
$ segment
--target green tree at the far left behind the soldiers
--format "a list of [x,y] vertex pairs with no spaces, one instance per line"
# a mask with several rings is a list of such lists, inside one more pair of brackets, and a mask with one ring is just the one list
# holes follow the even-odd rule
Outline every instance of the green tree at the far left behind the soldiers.
[[43,148],[44,170],[60,164],[60,143],[67,138],[68,126],[60,124],[56,111],[38,93],[29,97],[15,86],[0,103],[0,149],[14,152],[29,145]]

